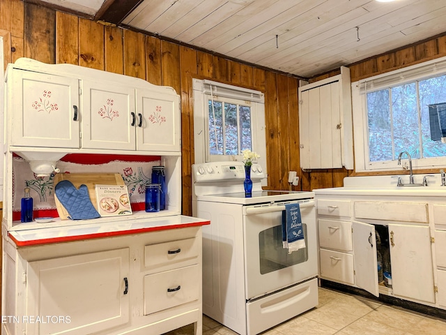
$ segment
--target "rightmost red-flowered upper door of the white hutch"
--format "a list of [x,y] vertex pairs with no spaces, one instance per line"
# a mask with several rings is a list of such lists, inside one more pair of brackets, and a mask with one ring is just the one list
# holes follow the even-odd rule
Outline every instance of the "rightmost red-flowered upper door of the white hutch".
[[137,89],[137,150],[180,151],[180,107],[176,94]]

